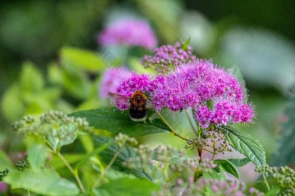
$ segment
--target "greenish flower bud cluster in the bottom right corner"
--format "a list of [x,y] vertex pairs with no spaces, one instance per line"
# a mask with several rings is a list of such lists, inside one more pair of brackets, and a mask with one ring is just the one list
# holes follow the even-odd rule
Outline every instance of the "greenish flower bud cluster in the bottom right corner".
[[281,196],[295,195],[295,171],[288,166],[274,166],[268,165],[255,168],[256,172],[270,176],[280,187]]

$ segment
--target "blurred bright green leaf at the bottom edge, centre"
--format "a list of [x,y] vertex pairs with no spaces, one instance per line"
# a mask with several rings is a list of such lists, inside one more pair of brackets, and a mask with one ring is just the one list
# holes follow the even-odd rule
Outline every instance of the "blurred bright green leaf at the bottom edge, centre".
[[158,184],[145,179],[121,178],[94,189],[96,196],[151,196],[160,189]]

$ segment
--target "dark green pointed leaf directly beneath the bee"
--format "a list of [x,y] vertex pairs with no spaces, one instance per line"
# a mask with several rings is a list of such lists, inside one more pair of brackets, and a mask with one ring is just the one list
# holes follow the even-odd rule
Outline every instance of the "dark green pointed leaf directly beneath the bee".
[[[150,110],[148,110],[149,118]],[[75,117],[85,117],[90,126],[128,136],[145,136],[148,134],[169,131],[169,128],[160,119],[147,122],[134,122],[129,117],[129,111],[121,112],[117,108],[98,108],[78,111],[70,114]]]

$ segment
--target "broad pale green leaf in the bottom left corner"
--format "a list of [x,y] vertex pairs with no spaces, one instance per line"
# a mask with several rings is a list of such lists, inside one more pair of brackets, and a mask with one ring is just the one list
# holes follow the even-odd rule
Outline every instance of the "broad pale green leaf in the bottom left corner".
[[22,188],[46,196],[75,196],[79,194],[78,187],[71,181],[60,178],[49,169],[25,169],[11,171],[4,178],[12,189]]

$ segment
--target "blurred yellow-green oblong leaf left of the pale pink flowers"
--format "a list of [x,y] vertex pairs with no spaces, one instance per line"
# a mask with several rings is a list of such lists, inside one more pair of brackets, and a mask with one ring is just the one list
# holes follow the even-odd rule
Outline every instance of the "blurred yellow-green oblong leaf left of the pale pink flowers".
[[101,57],[90,50],[80,48],[62,48],[60,56],[63,64],[70,64],[88,71],[103,71],[106,68]]

